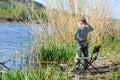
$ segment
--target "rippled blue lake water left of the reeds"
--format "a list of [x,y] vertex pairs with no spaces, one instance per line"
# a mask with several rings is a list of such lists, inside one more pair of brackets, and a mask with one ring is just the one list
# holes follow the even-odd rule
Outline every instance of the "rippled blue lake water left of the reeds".
[[0,62],[11,60],[5,65],[16,68],[25,63],[20,56],[31,56],[28,51],[28,46],[32,43],[31,31],[30,25],[27,24],[0,23]]

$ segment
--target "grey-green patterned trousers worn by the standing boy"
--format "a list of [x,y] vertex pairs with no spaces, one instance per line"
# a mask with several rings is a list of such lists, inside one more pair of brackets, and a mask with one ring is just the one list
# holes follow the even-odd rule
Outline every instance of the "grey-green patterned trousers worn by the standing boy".
[[[84,42],[79,42],[77,43],[77,48],[76,48],[76,56],[75,56],[75,68],[79,68],[80,66],[80,57],[88,57],[88,43],[87,41]],[[85,66],[87,63],[87,60],[83,60],[83,65]]]

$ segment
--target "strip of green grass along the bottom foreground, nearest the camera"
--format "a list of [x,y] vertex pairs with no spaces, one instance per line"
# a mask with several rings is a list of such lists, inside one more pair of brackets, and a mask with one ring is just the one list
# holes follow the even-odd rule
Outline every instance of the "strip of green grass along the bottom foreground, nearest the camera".
[[11,70],[2,74],[1,80],[70,80],[69,72],[55,70],[53,67],[46,67],[42,69],[32,69],[28,71]]

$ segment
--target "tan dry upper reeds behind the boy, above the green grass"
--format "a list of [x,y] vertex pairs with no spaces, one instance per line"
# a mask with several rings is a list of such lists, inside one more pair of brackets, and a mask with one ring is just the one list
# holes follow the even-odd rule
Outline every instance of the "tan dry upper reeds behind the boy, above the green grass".
[[80,17],[94,27],[89,42],[101,44],[115,30],[111,29],[114,26],[108,0],[46,0],[45,3],[48,21],[54,27],[54,42],[72,42]]

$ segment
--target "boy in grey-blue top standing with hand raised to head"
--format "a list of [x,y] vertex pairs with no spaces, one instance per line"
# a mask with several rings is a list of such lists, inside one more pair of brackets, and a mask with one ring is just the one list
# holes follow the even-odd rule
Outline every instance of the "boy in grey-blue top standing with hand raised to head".
[[[87,43],[87,36],[88,33],[93,31],[93,28],[88,25],[85,18],[78,19],[78,28],[76,29],[74,33],[74,38],[77,42],[77,48],[76,48],[76,56],[75,56],[75,66],[72,70],[72,72],[75,72],[78,70],[80,66],[80,60],[79,58],[82,56],[88,57],[88,43]],[[83,61],[83,65],[86,65],[87,60]]]

